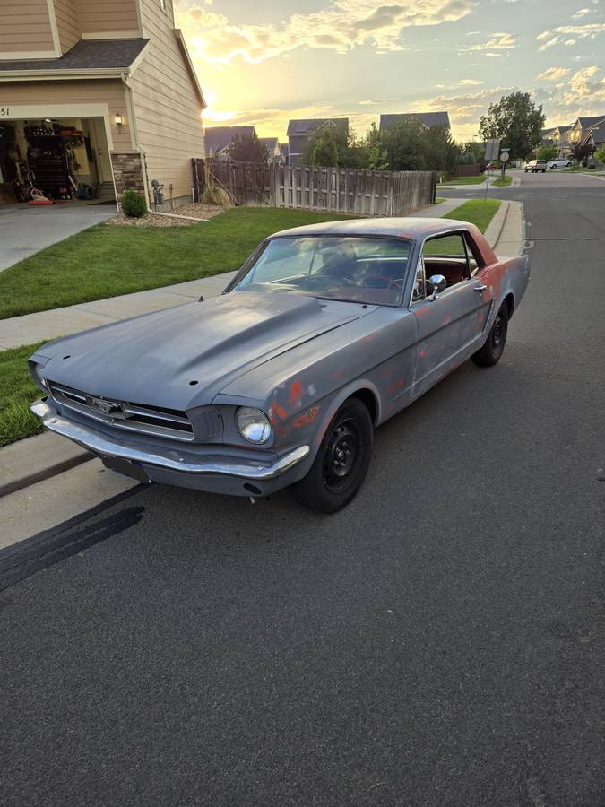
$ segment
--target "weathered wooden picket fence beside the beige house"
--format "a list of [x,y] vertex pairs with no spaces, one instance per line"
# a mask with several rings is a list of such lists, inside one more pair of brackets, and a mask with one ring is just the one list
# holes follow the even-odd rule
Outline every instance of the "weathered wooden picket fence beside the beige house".
[[266,204],[361,216],[403,216],[435,201],[434,171],[358,171],[194,158],[194,199],[206,177],[235,204]]

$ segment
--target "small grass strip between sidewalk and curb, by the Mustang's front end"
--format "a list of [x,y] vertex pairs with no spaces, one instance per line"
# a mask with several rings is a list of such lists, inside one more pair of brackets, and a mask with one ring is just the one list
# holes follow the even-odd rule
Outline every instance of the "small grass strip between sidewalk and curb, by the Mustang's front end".
[[40,344],[0,352],[0,446],[42,431],[41,422],[29,410],[41,393],[27,366]]

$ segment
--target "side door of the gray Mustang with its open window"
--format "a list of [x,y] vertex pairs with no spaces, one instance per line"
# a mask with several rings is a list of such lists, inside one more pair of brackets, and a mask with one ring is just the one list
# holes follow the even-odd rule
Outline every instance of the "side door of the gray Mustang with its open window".
[[[462,230],[423,245],[411,299],[419,334],[414,395],[479,347],[489,301],[484,284],[472,276],[476,263]],[[435,274],[447,282],[445,291],[436,294],[429,281]]]

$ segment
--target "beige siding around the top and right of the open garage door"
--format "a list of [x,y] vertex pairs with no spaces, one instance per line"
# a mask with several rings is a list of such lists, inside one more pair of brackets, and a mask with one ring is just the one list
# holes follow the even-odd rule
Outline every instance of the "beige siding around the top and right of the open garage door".
[[[117,79],[82,82],[3,82],[0,86],[0,95],[3,106],[6,107],[70,105],[73,106],[73,111],[69,117],[81,117],[77,112],[77,104],[108,104],[114,151],[127,152],[132,149],[124,85]],[[114,124],[116,112],[120,112],[124,120],[122,131],[118,131]]]

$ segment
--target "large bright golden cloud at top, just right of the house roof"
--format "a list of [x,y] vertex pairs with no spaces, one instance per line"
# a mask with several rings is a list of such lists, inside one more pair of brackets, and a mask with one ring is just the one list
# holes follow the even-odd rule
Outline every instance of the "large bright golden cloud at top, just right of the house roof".
[[259,63],[298,48],[347,53],[360,45],[377,52],[401,50],[402,32],[419,25],[461,20],[475,0],[423,0],[384,4],[380,0],[326,0],[324,9],[295,13],[280,24],[234,24],[202,0],[180,0],[177,24],[185,30],[192,55],[229,64],[236,58]]

